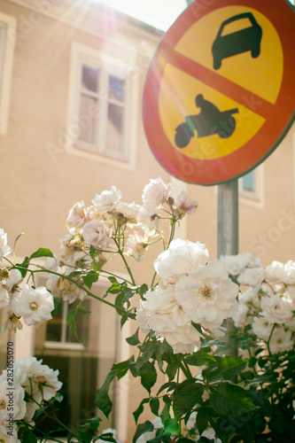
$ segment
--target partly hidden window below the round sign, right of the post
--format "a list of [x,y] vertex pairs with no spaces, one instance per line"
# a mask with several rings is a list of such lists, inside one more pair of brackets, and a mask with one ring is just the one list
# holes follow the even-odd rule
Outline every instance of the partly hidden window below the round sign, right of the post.
[[247,203],[263,206],[262,164],[239,179],[239,196]]

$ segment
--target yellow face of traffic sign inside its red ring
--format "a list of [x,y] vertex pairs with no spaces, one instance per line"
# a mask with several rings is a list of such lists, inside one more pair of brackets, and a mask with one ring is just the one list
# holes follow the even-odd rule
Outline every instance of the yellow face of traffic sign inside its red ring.
[[[222,47],[222,39],[229,42],[241,33],[251,42],[255,23],[263,29],[260,48],[252,45],[249,51],[234,53],[233,45],[234,57],[229,53],[217,58],[213,49]],[[282,78],[282,45],[264,14],[244,6],[209,12],[182,35],[167,57],[159,88],[159,118],[167,139],[191,159],[219,159],[236,152],[262,128],[264,108],[276,104]],[[245,99],[243,90],[252,93],[252,101]],[[206,128],[208,113],[211,122],[214,113],[219,115],[218,125]]]

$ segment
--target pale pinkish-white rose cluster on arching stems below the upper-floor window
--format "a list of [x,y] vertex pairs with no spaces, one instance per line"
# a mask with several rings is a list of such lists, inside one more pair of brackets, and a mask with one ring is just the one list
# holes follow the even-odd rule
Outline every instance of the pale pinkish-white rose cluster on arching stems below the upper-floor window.
[[[59,255],[47,262],[46,267],[56,271],[62,262],[64,275],[73,272],[73,268],[83,268],[88,263],[85,254],[90,246],[99,254],[99,264],[105,265],[104,252],[118,251],[119,240],[124,237],[123,253],[140,261],[144,258],[151,237],[160,235],[159,209],[168,206],[170,214],[180,220],[184,214],[194,214],[197,202],[190,200],[186,192],[182,191],[176,198],[171,196],[170,185],[161,178],[151,179],[144,186],[143,204],[125,203],[122,193],[112,186],[111,190],[103,190],[96,194],[91,206],[85,206],[84,201],[77,202],[66,219],[66,237],[60,240]],[[75,284],[54,274],[46,284],[55,296],[69,303],[75,299],[82,299],[85,292]]]

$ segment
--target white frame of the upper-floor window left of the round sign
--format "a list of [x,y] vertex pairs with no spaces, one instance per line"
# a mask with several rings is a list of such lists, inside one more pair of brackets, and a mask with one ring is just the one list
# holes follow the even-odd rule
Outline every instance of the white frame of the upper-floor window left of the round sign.
[[[113,43],[115,45],[115,43]],[[113,48],[112,45],[112,48]],[[110,50],[110,45],[106,45]],[[110,51],[109,51],[110,52]],[[113,51],[112,51],[113,52]],[[68,117],[66,128],[66,152],[82,156],[87,159],[94,159],[106,164],[116,165],[127,169],[136,167],[136,140],[137,140],[137,121],[139,105],[139,72],[136,69],[136,53],[133,48],[122,49],[120,47],[121,58],[112,57],[104,51],[95,51],[80,43],[72,43],[69,97],[68,97]],[[126,62],[125,60],[128,60]],[[130,61],[131,60],[131,61]],[[125,103],[125,140],[126,151],[122,155],[108,154],[105,150],[104,132],[101,132],[99,144],[94,148],[92,144],[87,144],[78,140],[80,125],[80,97],[82,84],[82,66],[86,65],[93,68],[102,69],[103,72],[111,74],[126,81]],[[106,78],[106,77],[105,77]],[[102,127],[106,124],[105,106],[110,100],[101,100],[101,108],[97,108],[98,124]],[[104,151],[105,150],[105,151]]]

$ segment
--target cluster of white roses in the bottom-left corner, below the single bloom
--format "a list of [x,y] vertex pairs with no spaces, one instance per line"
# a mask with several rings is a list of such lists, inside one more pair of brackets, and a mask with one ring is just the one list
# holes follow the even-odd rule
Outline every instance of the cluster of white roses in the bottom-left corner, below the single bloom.
[[[23,357],[0,376],[0,441],[20,443],[19,424],[34,424],[35,412],[61,388],[58,370],[35,357]],[[13,376],[11,375],[13,374]],[[20,422],[21,421],[21,422]]]

